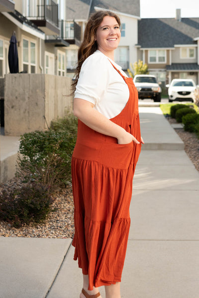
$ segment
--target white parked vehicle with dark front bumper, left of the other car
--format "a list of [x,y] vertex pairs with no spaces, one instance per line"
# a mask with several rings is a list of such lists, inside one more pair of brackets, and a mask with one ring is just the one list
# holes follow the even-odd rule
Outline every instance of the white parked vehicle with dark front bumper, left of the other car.
[[154,101],[161,101],[162,89],[157,83],[155,76],[136,75],[133,82],[137,88],[139,99],[153,99]]

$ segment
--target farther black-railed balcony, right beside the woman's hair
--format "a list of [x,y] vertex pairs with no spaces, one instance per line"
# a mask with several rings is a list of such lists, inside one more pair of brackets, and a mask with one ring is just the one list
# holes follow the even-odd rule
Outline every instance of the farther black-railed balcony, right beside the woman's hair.
[[75,21],[60,20],[60,36],[70,44],[80,46],[81,43],[81,26]]

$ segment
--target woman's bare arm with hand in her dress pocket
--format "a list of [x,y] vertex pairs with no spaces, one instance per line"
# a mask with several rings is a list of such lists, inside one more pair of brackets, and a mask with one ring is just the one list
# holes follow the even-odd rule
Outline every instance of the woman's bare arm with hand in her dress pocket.
[[94,104],[84,99],[74,99],[74,115],[90,128],[117,138],[118,144],[128,144],[134,141],[139,144],[138,140],[124,128],[107,119],[100,112],[95,110]]

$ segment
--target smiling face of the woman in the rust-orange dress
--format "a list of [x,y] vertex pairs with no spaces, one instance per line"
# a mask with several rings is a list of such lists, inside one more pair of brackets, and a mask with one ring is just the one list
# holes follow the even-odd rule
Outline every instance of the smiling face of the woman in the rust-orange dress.
[[119,25],[113,16],[104,16],[96,31],[98,49],[105,55],[114,51],[120,41],[121,33]]

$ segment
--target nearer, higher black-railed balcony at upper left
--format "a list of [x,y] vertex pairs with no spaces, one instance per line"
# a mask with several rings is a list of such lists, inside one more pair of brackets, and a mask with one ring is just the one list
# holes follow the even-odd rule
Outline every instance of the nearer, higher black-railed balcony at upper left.
[[48,3],[46,4],[46,0],[42,0],[42,4],[31,9],[26,17],[46,35],[59,35],[58,4],[53,0],[49,0]]

